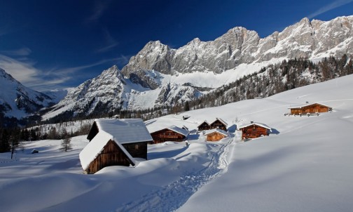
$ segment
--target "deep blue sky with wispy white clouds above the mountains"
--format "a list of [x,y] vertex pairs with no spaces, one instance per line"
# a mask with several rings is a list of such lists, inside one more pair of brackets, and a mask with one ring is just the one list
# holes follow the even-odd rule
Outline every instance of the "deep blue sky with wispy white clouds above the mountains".
[[74,87],[123,68],[148,41],[179,48],[238,26],[263,38],[352,12],[353,0],[0,0],[0,67],[37,91]]

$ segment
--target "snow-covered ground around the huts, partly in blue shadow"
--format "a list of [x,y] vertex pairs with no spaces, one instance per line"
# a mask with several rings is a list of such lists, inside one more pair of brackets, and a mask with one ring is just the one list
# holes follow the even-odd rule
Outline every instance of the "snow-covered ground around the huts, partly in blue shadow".
[[[150,131],[193,130],[219,117],[231,136],[207,143],[202,133],[191,133],[188,147],[148,145],[148,161],[134,168],[83,175],[78,154],[85,136],[72,139],[70,152],[60,152],[60,140],[28,142],[13,160],[0,154],[1,211],[352,211],[352,81],[353,75],[146,121]],[[333,112],[284,116],[306,101]],[[272,133],[240,142],[235,128],[251,120]]]

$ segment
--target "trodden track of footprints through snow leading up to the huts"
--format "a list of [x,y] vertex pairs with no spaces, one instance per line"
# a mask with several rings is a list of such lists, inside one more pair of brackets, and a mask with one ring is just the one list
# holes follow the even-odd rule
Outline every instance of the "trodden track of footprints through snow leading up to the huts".
[[116,211],[177,211],[202,185],[227,171],[228,153],[233,155],[234,150],[232,148],[229,151],[231,143],[235,145],[234,137],[214,152],[210,164],[202,170],[181,175],[179,180],[125,204]]

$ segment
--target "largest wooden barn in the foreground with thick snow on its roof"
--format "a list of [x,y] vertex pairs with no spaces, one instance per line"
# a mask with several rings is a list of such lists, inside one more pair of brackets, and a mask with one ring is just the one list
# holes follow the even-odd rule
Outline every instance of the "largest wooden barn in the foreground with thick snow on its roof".
[[106,166],[135,166],[134,158],[147,159],[153,139],[142,119],[95,119],[79,157],[84,173]]

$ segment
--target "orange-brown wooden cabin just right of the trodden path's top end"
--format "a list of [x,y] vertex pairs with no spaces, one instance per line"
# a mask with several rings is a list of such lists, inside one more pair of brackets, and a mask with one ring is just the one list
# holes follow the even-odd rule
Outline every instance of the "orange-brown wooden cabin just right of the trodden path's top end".
[[258,138],[263,135],[269,135],[271,128],[265,124],[252,122],[250,124],[240,126],[240,131],[242,131],[242,139],[247,138]]

